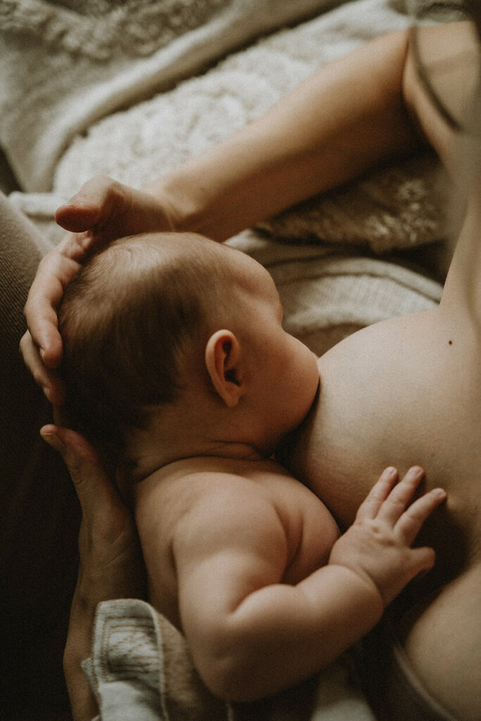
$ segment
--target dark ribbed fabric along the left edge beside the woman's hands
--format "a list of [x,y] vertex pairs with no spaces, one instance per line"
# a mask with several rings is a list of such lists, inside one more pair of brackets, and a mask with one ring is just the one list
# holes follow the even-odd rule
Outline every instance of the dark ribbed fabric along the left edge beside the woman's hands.
[[[61,657],[77,567],[79,508],[42,441],[50,407],[19,355],[23,306],[44,239],[0,195],[1,716],[65,709]],[[66,716],[67,717],[67,716]]]

